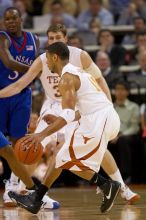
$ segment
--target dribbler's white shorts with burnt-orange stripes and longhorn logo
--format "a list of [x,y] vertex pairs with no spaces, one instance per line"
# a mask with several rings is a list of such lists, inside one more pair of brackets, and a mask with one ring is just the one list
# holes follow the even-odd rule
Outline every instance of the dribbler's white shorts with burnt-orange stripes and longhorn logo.
[[82,116],[65,130],[65,143],[56,156],[56,168],[98,172],[107,144],[120,129],[120,119],[113,106]]

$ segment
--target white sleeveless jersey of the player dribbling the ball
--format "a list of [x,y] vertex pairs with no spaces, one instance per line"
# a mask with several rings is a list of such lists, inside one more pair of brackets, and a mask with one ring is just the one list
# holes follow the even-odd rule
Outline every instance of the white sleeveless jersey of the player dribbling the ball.
[[77,91],[77,107],[82,115],[91,114],[112,105],[90,74],[70,63],[63,68],[62,75],[66,72],[77,75],[80,79],[80,88]]

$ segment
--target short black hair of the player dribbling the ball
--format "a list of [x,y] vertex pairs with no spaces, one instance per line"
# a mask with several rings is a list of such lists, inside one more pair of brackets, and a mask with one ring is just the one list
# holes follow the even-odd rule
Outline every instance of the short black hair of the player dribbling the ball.
[[47,52],[57,54],[61,60],[69,60],[69,49],[63,42],[55,42],[47,47]]

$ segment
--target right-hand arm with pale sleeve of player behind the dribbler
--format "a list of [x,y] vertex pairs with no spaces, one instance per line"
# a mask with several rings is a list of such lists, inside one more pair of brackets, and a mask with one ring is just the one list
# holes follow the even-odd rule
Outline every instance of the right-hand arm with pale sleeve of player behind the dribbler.
[[81,53],[81,62],[83,69],[86,70],[86,72],[90,73],[97,81],[100,88],[103,90],[103,92],[106,94],[107,98],[112,101],[111,93],[109,90],[109,87],[102,76],[102,73],[98,66],[93,62],[89,54],[85,51],[82,51]]

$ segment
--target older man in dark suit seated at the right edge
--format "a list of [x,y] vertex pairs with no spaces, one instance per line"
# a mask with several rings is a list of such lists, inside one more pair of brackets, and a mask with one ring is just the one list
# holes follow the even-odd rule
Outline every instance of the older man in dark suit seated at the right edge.
[[127,76],[127,80],[137,88],[146,88],[146,50],[139,53],[138,64],[140,69]]

